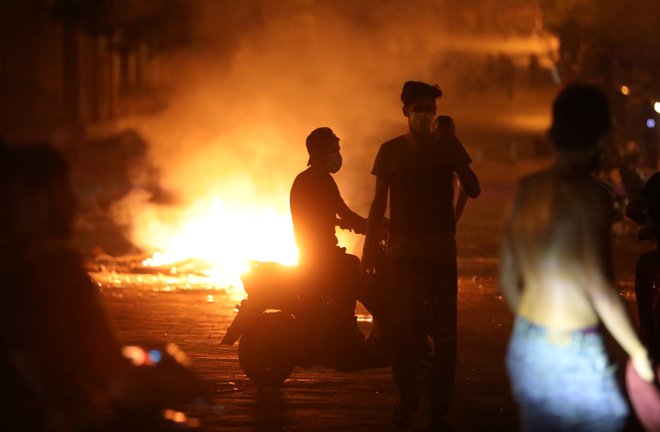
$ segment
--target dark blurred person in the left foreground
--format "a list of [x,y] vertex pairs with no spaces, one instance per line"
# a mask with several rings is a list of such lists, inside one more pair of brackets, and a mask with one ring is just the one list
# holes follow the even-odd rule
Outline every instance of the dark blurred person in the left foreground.
[[128,364],[96,286],[68,246],[75,199],[54,149],[6,154],[0,269],[2,430],[97,430]]

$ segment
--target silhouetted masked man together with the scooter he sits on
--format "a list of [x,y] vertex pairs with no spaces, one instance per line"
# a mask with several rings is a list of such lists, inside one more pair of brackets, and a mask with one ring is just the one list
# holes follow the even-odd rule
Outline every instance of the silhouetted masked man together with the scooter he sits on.
[[233,345],[240,339],[239,363],[257,385],[280,385],[295,366],[350,371],[387,365],[384,344],[376,343],[382,339],[365,341],[354,315],[360,300],[382,316],[382,301],[374,294],[382,285],[384,260],[378,274],[362,279],[359,259],[337,246],[336,226],[358,233],[366,228],[331,175],[342,165],[339,138],[321,127],[306,145],[309,168],[296,177],[290,197],[300,265],[253,263],[242,277],[248,298],[221,341]]

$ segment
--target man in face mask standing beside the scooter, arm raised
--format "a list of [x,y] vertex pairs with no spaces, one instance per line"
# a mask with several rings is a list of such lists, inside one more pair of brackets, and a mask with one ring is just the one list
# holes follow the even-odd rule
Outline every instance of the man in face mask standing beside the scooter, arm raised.
[[432,132],[437,86],[408,81],[403,115],[408,133],[381,145],[372,173],[376,192],[367,227],[362,264],[374,266],[376,230],[390,199],[388,241],[388,319],[391,320],[392,372],[400,403],[392,421],[412,423],[420,402],[419,346],[434,341],[429,416],[433,427],[447,423],[456,369],[456,222],[453,176],[467,195],[479,195],[470,156],[458,140]]

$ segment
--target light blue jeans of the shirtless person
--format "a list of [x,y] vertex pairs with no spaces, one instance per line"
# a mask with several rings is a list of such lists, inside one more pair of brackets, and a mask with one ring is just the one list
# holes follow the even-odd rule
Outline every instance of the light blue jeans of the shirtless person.
[[506,365],[524,431],[620,431],[628,404],[599,330],[550,333],[516,318]]

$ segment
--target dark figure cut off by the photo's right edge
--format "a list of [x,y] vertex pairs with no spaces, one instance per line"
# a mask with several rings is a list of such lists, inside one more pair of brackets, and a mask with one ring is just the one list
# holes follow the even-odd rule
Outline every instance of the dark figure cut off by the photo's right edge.
[[657,248],[637,260],[635,297],[642,340],[649,348],[653,360],[657,362],[660,357],[660,173],[651,176],[641,195],[645,202],[645,222],[649,223]]

